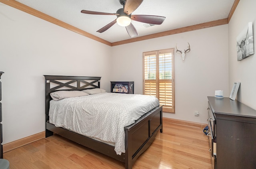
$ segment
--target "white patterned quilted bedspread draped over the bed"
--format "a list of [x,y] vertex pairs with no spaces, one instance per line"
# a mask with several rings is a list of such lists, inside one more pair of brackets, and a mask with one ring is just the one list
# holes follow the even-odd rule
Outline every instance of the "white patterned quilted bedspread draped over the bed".
[[125,153],[124,127],[159,105],[157,98],[140,94],[101,93],[50,101],[50,123],[79,134],[115,143]]

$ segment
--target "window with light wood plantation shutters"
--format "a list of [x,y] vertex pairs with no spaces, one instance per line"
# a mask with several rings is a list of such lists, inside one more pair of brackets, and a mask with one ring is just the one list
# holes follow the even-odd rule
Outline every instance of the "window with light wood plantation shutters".
[[143,94],[155,96],[174,113],[174,49],[143,53]]

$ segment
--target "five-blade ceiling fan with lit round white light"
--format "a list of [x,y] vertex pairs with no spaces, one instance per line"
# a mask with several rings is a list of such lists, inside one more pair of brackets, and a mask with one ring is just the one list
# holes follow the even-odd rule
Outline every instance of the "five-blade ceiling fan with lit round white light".
[[123,6],[123,8],[120,8],[116,11],[116,13],[105,13],[105,12],[96,12],[96,11],[88,11],[88,10],[82,10],[81,12],[84,14],[94,14],[94,15],[116,15],[117,18],[104,26],[103,28],[99,29],[97,32],[104,32],[108,30],[111,26],[114,24],[118,24],[120,26],[124,26],[126,28],[126,31],[130,35],[130,37],[136,37],[138,36],[138,32],[131,23],[131,20],[143,22],[146,24],[154,24],[154,25],[160,25],[164,22],[165,17],[163,16],[153,16],[153,15],[132,15],[132,12],[136,10],[140,4],[143,2],[143,0],[119,0],[120,4]]

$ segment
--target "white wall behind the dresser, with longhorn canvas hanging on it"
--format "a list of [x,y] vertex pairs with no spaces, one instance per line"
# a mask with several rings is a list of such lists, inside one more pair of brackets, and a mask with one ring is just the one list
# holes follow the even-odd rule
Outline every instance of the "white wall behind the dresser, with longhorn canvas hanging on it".
[[240,0],[228,24],[229,42],[229,90],[234,82],[240,82],[237,100],[256,109],[256,55],[251,55],[242,61],[237,61],[236,37],[248,26],[253,24],[254,53],[256,53],[256,1]]

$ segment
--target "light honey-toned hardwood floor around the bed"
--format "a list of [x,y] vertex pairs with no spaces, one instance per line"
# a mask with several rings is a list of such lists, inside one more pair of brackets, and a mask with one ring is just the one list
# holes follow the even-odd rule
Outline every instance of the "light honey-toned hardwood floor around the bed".
[[[203,126],[204,127],[204,126]],[[201,128],[164,123],[133,169],[211,169]],[[4,153],[10,169],[124,169],[124,163],[54,135]]]

